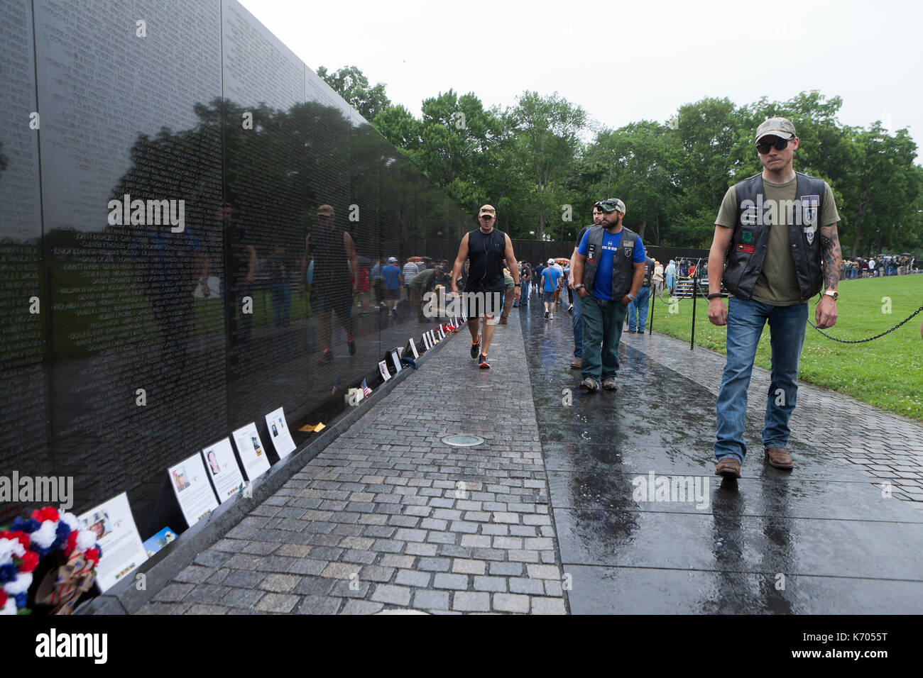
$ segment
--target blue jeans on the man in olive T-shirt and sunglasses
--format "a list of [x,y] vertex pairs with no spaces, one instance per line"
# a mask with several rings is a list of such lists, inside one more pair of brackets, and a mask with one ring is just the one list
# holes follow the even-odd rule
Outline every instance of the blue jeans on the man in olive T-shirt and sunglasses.
[[762,328],[769,321],[773,376],[766,397],[762,446],[785,447],[788,418],[795,410],[798,392],[798,360],[805,340],[808,304],[773,306],[732,297],[727,303],[727,363],[718,391],[717,440],[714,456],[728,455],[743,461],[747,387]]

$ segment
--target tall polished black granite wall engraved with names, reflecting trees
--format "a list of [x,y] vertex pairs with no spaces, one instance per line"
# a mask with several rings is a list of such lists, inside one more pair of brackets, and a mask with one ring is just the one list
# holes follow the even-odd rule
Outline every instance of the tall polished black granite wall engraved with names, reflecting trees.
[[147,537],[166,467],[419,337],[406,258],[475,224],[234,0],[10,0],[0,31],[0,475],[126,491]]

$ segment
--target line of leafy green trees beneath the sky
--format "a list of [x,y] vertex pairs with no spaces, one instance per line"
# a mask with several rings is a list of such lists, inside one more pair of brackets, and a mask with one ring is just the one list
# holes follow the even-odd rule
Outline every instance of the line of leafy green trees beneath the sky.
[[705,98],[664,122],[610,129],[557,92],[524,91],[514,106],[485,108],[473,92],[450,89],[423,101],[416,117],[355,66],[320,66],[318,76],[462,209],[493,204],[514,238],[572,240],[593,202],[614,196],[646,243],[707,247],[727,186],[761,171],[756,127],[781,115],[801,139],[795,169],[833,188],[845,255],[923,255],[917,144],[881,121],[843,125],[840,97],[812,90],[742,106]]

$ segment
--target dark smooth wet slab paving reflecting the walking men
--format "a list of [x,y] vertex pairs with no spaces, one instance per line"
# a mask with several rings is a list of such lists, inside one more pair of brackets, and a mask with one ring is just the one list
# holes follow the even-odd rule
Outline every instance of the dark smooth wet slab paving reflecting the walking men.
[[809,441],[773,469],[751,417],[742,478],[717,478],[712,393],[628,334],[617,392],[581,391],[570,315],[539,306],[519,313],[572,613],[923,610],[917,509]]

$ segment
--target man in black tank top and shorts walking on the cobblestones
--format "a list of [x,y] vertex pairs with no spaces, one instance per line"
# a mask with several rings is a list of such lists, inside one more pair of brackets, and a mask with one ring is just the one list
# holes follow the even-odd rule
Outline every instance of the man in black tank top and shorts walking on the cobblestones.
[[[487,349],[494,337],[494,323],[503,307],[503,263],[509,267],[510,275],[516,287],[513,299],[520,300],[519,266],[513,254],[513,243],[509,235],[497,231],[497,210],[485,205],[478,211],[477,220],[481,227],[470,231],[462,237],[459,255],[452,269],[452,291],[458,294],[458,279],[462,274],[465,259],[470,260],[468,279],[464,286],[463,302],[465,314],[468,315],[468,329],[471,331],[471,357],[477,359],[478,366],[489,368]],[[484,315],[484,337],[480,334],[481,315]],[[483,348],[482,348],[483,343]]]

